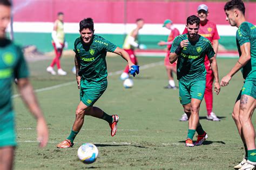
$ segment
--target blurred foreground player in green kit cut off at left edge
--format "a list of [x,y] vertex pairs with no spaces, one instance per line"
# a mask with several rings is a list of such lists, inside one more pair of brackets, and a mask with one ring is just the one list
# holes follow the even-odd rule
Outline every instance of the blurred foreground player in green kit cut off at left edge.
[[28,79],[29,71],[22,50],[5,35],[11,18],[11,3],[0,0],[0,11],[0,169],[9,170],[12,169],[17,145],[15,113],[11,100],[15,78],[24,103],[37,120],[37,139],[41,147],[47,144],[48,128]]

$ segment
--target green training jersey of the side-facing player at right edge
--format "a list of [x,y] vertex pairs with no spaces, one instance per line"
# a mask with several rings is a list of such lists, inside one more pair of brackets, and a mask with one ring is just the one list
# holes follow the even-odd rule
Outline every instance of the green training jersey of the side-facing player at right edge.
[[251,43],[251,60],[242,67],[242,77],[245,81],[255,80],[256,77],[256,26],[243,22],[237,30],[237,48],[241,56],[240,46],[244,43]]

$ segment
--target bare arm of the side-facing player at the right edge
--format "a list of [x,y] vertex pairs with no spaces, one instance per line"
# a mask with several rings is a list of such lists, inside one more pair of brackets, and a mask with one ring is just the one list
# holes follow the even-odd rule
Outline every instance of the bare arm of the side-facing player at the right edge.
[[234,67],[231,71],[221,79],[221,86],[227,86],[228,82],[237,73],[242,67],[244,67],[251,59],[251,43],[247,42],[240,46],[241,56],[238,59],[237,63],[235,63]]

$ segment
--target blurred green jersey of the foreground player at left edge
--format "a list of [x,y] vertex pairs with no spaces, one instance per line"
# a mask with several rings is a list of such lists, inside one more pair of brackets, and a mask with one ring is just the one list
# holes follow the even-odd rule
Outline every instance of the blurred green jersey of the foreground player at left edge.
[[[13,116],[12,83],[15,78],[29,76],[28,67],[20,47],[8,39],[0,39],[0,124]],[[1,127],[0,127],[1,128]]]

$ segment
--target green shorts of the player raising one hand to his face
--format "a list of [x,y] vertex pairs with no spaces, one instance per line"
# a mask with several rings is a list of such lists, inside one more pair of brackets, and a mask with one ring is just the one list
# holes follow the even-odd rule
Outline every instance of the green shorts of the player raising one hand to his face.
[[179,81],[179,100],[182,105],[191,103],[191,99],[203,100],[206,80]]

